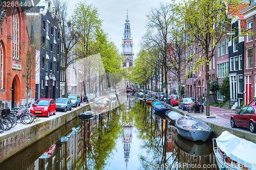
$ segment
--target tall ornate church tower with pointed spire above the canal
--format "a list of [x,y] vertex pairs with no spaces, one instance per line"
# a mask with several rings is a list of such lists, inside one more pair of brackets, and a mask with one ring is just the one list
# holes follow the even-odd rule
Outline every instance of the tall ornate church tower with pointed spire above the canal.
[[128,18],[128,10],[124,23],[124,33],[122,41],[122,54],[124,56],[123,67],[129,68],[133,65],[133,38],[131,37],[130,20]]

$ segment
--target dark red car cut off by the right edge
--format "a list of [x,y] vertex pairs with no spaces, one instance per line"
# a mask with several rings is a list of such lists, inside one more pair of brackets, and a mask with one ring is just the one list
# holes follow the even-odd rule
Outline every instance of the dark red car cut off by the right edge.
[[230,118],[232,128],[243,127],[256,133],[256,106],[245,106],[239,112],[233,114]]

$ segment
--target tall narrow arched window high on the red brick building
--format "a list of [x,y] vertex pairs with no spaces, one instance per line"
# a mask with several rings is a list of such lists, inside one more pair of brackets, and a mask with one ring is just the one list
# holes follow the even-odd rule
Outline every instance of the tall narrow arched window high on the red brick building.
[[19,22],[17,9],[13,8],[12,16],[12,58],[18,59],[19,54]]

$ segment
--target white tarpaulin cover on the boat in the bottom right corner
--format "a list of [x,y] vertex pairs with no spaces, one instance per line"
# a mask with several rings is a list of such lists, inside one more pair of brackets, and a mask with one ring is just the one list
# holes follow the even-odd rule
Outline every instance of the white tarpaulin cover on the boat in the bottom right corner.
[[226,153],[226,155],[245,166],[251,166],[251,169],[256,169],[256,143],[241,139],[228,131],[216,139],[218,147]]

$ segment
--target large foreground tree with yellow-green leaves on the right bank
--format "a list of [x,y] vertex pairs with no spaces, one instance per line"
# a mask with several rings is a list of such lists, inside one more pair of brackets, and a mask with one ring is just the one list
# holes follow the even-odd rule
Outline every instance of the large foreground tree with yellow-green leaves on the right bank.
[[[231,5],[230,5],[231,4]],[[231,0],[224,3],[222,0],[197,0],[187,1],[179,4],[180,15],[183,15],[186,25],[185,32],[187,34],[188,44],[200,43],[203,51],[203,57],[196,60],[194,63],[195,70],[199,66],[205,65],[206,79],[206,115],[210,115],[209,110],[209,94],[210,94],[210,79],[209,79],[209,62],[215,55],[215,50],[218,42],[227,36],[227,30],[230,23],[230,14],[238,13],[241,4],[240,0]],[[211,44],[211,45],[210,45]],[[211,52],[209,53],[209,48]],[[190,57],[190,56],[189,56]]]

